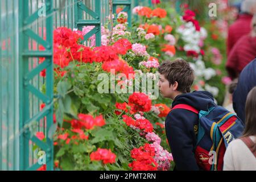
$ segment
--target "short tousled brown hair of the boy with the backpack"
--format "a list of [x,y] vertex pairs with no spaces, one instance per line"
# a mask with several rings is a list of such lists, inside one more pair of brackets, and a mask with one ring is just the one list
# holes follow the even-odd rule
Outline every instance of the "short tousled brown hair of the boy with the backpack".
[[178,83],[177,91],[182,93],[189,93],[191,85],[194,81],[193,69],[183,59],[177,59],[175,61],[163,61],[160,64],[158,71],[161,75],[164,75],[169,81],[169,84]]

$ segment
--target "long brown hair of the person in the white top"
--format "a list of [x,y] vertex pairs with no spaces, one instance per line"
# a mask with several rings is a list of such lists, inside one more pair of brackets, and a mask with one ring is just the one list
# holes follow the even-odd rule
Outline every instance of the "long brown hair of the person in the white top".
[[[256,136],[256,86],[251,89],[245,104],[245,131],[243,137]],[[256,150],[256,143],[253,147]]]

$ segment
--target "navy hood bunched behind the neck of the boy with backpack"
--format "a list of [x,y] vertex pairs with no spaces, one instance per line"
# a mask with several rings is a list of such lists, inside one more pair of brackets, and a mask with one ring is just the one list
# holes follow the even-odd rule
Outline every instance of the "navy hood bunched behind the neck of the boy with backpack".
[[187,104],[197,110],[207,110],[209,107],[216,106],[213,95],[207,91],[194,91],[175,97],[172,107],[178,104]]

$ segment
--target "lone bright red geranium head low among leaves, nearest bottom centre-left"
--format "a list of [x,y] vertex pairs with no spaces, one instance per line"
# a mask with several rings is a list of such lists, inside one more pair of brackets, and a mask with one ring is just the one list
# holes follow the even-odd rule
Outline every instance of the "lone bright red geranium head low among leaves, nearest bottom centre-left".
[[109,149],[98,148],[96,152],[90,154],[90,160],[102,160],[104,164],[113,164],[115,163],[116,155]]

